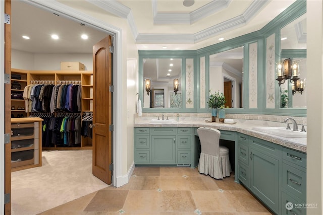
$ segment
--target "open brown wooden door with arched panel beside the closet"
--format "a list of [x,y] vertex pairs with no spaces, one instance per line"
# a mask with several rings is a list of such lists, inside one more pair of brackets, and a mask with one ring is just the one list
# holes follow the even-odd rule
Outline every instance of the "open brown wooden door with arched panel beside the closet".
[[112,37],[93,46],[93,163],[92,173],[107,184],[112,182]]

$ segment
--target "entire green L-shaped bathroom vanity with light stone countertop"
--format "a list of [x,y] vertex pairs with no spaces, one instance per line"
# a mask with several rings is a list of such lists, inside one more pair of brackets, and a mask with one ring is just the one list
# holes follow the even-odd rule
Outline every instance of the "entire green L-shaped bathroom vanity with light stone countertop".
[[[221,131],[220,139],[234,145],[235,181],[243,184],[277,214],[306,214],[287,202],[306,202],[306,138],[286,138],[253,129],[252,124],[219,124],[203,121],[151,124],[134,128],[136,166],[198,166],[198,127]],[[297,140],[295,140],[297,139]],[[293,142],[296,141],[296,142]],[[232,152],[231,152],[232,153]]]

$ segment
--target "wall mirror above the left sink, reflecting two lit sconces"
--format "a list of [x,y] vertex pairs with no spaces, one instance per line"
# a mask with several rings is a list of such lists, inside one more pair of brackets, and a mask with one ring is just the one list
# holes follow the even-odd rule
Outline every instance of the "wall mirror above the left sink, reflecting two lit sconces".
[[182,108],[182,59],[143,58],[143,108]]

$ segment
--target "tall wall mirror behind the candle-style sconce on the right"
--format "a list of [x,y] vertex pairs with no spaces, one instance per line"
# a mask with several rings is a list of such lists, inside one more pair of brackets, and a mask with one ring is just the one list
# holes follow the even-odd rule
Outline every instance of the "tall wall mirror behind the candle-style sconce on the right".
[[306,14],[283,27],[280,33],[281,61],[291,58],[291,66],[297,65],[297,77],[299,82],[303,80],[304,88],[303,92],[297,91],[297,87],[286,80],[280,87],[280,107],[306,108]]

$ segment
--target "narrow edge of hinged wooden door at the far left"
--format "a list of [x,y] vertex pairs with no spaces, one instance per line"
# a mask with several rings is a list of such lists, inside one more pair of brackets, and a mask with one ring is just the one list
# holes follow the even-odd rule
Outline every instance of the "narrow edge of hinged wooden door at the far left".
[[[5,1],[5,13],[11,15],[11,0]],[[11,25],[5,24],[5,73],[11,74]],[[4,74],[3,74],[4,76]],[[11,133],[11,85],[5,84],[5,133]],[[11,142],[5,144],[5,214],[11,214]]]

